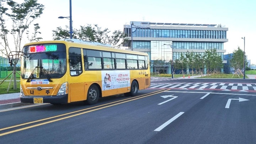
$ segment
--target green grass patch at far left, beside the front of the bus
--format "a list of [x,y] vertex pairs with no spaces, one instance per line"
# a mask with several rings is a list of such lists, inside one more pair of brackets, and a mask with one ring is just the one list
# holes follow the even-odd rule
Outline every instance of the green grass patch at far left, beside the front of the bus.
[[[1,82],[1,81],[0,81]],[[1,85],[0,85],[0,94],[6,94],[7,93],[7,88],[9,86],[10,81],[4,81]],[[8,93],[17,93],[20,92],[20,82],[17,81],[17,90],[13,89],[14,86],[14,82],[11,82],[10,88],[9,88],[9,92]]]

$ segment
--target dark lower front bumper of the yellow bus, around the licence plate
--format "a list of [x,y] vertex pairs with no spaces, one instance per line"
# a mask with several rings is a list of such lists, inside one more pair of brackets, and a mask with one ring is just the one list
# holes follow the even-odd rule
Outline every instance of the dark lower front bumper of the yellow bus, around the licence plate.
[[34,103],[34,98],[43,98],[43,103],[68,103],[68,94],[64,94],[62,96],[20,96],[20,100],[22,103]]

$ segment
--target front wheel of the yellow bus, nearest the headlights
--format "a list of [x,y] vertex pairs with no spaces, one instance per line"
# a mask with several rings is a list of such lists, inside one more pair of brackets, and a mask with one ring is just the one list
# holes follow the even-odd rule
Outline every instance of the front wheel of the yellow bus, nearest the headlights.
[[96,85],[91,85],[87,92],[87,100],[86,103],[89,105],[96,104],[98,102],[98,98],[100,97],[100,91]]

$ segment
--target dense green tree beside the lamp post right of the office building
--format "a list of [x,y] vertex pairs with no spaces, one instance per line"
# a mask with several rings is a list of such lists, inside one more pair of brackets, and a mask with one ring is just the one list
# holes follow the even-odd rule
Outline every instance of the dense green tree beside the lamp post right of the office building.
[[[233,51],[233,55],[230,55],[230,65],[235,70],[238,70],[238,69],[241,70],[244,68],[244,51],[242,51],[240,47],[238,47],[237,50]],[[246,56],[245,56],[245,65],[248,65]]]

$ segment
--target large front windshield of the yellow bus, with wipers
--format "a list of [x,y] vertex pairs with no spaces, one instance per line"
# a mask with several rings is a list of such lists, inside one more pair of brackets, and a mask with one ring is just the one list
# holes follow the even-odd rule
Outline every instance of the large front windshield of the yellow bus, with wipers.
[[[59,45],[56,44],[56,47]],[[47,45],[39,46],[43,47]],[[65,45],[60,45],[59,47],[63,46],[65,48]],[[52,51],[38,50],[33,52],[31,46],[24,47],[25,56],[22,58],[22,79],[52,79],[62,77],[66,73],[66,52],[64,52],[64,48]]]

